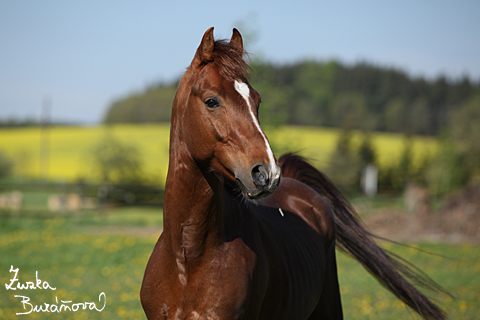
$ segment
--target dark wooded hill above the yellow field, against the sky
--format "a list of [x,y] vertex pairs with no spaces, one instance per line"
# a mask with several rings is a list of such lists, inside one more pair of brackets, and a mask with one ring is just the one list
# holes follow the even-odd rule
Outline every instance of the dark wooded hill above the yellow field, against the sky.
[[[250,83],[262,96],[260,121],[437,135],[449,116],[480,92],[468,77],[412,77],[394,68],[336,61],[251,64]],[[115,100],[105,123],[168,122],[178,81]]]

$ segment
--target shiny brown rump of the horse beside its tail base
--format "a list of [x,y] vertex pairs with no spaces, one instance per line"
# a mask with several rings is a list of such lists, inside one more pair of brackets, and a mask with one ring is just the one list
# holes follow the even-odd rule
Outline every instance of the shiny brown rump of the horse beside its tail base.
[[277,207],[301,217],[319,234],[333,239],[335,223],[327,202],[317,191],[295,179],[282,178],[273,197],[259,200],[260,204]]

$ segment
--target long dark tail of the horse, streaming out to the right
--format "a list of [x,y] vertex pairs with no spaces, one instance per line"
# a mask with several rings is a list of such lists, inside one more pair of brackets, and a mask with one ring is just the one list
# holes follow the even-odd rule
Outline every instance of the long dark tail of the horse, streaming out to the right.
[[307,184],[329,202],[335,217],[337,246],[340,249],[359,261],[380,283],[424,319],[447,318],[439,307],[405,278],[431,290],[447,292],[405,260],[380,248],[375,243],[374,236],[362,225],[356,211],[330,179],[294,154],[283,155],[279,164],[282,177]]

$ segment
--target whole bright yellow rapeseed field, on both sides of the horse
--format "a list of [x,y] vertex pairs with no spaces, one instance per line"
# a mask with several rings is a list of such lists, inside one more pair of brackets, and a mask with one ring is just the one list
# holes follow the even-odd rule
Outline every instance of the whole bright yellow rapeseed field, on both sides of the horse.
[[[328,166],[339,134],[337,129],[294,126],[266,128],[265,132],[277,155],[299,152],[319,168]],[[36,179],[46,174],[49,180],[95,181],[99,177],[92,171],[93,150],[106,135],[135,146],[144,173],[163,184],[168,167],[168,124],[52,127],[43,132],[40,127],[3,128],[0,151],[15,162],[16,176]],[[49,145],[47,170],[40,169],[40,144],[45,139],[42,136],[47,137]],[[361,134],[356,132],[353,144],[358,145],[360,139]],[[389,133],[372,134],[372,143],[380,167],[398,162],[405,144],[402,135]],[[414,137],[414,164],[419,164],[425,156],[433,156],[437,147],[434,138]]]

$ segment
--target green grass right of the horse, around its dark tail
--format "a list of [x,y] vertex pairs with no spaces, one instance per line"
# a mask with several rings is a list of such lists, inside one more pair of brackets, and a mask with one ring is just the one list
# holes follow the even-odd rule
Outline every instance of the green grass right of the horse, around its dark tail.
[[[444,294],[424,291],[447,311],[449,319],[478,319],[479,247],[431,243],[415,246],[432,254],[384,244],[384,247],[412,262],[454,296],[452,299]],[[421,319],[376,282],[356,261],[343,253],[337,254],[337,260],[345,319]]]

